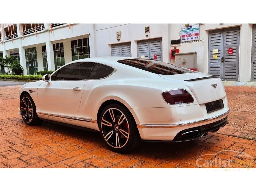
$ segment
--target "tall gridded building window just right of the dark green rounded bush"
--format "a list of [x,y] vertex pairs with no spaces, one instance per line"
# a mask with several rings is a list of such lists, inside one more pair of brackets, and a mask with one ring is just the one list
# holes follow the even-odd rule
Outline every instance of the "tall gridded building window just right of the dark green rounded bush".
[[35,75],[38,71],[36,47],[25,49],[26,67],[28,75]]

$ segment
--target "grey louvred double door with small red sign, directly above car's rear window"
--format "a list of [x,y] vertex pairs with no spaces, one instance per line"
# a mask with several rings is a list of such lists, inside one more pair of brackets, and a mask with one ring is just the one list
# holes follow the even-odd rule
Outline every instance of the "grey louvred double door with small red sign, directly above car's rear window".
[[147,59],[154,59],[157,55],[157,61],[163,61],[162,38],[142,40],[137,42],[138,57],[145,56]]

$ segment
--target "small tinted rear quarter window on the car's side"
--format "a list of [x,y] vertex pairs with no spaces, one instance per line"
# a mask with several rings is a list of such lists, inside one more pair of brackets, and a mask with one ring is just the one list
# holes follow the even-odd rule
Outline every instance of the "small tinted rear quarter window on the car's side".
[[110,75],[114,69],[107,65],[96,63],[88,79],[101,79]]

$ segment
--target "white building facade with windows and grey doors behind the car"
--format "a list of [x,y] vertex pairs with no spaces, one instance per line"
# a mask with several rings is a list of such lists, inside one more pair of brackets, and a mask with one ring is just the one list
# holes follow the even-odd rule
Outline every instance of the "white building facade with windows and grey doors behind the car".
[[[182,42],[181,28],[192,25],[198,25],[199,37]],[[0,40],[0,57],[17,57],[24,75],[103,56],[179,65],[181,57],[175,60],[172,50],[182,58],[193,53],[197,71],[228,81],[256,81],[255,24],[1,24]]]

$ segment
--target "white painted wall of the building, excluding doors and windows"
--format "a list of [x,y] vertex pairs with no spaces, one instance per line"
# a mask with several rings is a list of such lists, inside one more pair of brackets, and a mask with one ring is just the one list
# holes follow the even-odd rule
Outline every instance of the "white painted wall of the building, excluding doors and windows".
[[[190,25],[193,25],[191,23]],[[145,35],[145,27],[150,26],[149,37]],[[49,24],[45,24],[45,30],[35,34],[0,43],[0,51],[4,55],[12,49],[21,49],[37,46],[38,49],[38,67],[43,67],[40,58],[41,44],[49,47],[53,42],[63,42],[65,63],[72,60],[70,39],[79,39],[89,36],[90,57],[111,56],[111,44],[131,42],[132,57],[137,57],[137,41],[151,38],[162,38],[163,40],[163,61],[175,63],[170,59],[170,50],[174,45],[170,45],[171,40],[179,38],[181,27],[185,24],[72,24],[69,29],[68,24],[49,29]],[[249,81],[251,71],[251,49],[252,49],[252,24],[202,24],[200,25],[199,42],[181,43],[175,45],[180,53],[197,52],[198,71],[208,72],[208,32],[209,30],[221,29],[227,27],[240,26],[240,46],[239,46],[239,81]],[[2,29],[1,29],[2,30]],[[121,31],[120,41],[116,38],[116,32]],[[50,43],[49,43],[50,42]],[[41,51],[40,51],[41,52]],[[50,53],[49,53],[50,52]],[[21,54],[21,53],[20,53]],[[47,50],[48,63],[53,61],[52,50]],[[39,61],[40,59],[40,61]],[[50,65],[50,64],[48,64]],[[54,63],[51,65],[54,67]]]

